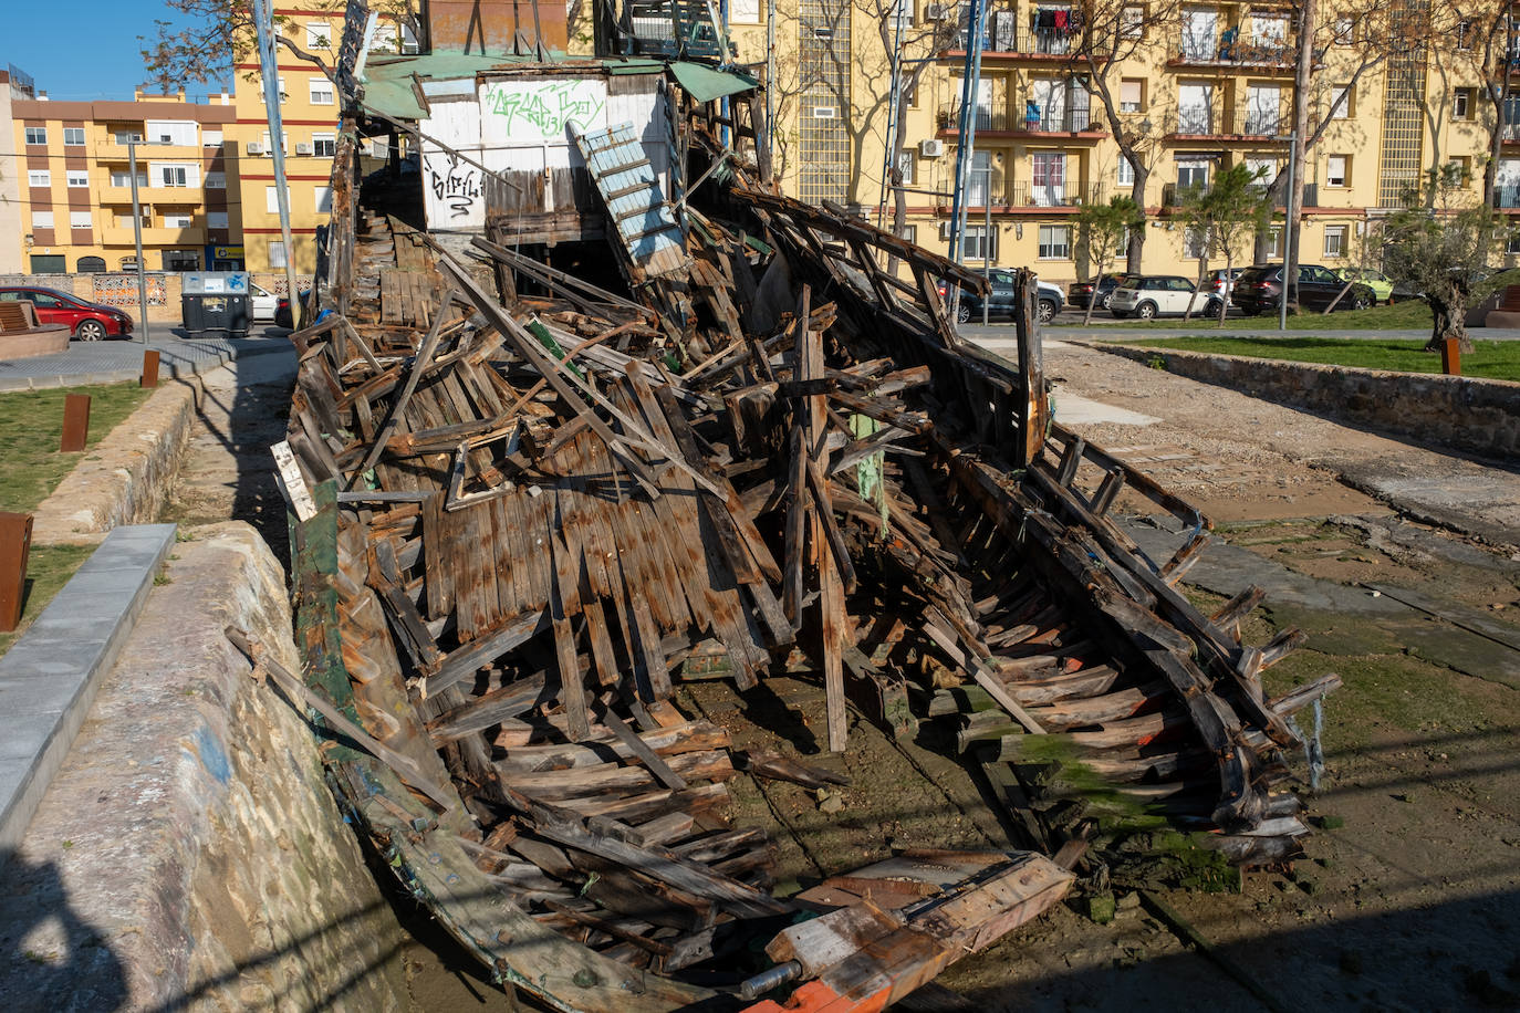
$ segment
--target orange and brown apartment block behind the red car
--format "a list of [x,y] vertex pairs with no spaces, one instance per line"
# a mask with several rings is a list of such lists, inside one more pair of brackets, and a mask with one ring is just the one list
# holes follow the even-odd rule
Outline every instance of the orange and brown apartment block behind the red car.
[[131,102],[11,97],[20,269],[122,270],[135,264],[129,141],[137,147],[143,261],[199,270],[236,260],[223,131],[226,94],[211,102],[137,91]]

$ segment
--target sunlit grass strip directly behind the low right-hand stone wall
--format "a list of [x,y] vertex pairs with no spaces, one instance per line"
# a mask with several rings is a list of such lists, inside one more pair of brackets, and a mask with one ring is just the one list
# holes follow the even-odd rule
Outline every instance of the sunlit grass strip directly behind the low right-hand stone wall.
[[[1335,337],[1158,337],[1123,342],[1145,348],[1172,348],[1180,352],[1249,355],[1297,363],[1324,363],[1357,369],[1395,372],[1441,372],[1441,355],[1427,352],[1424,340],[1377,340]],[[1462,355],[1462,375],[1484,380],[1520,381],[1520,342],[1473,342]]]

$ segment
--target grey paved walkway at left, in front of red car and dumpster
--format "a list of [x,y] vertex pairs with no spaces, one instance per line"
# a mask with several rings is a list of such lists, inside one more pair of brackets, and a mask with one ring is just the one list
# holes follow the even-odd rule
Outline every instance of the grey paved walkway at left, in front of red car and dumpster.
[[137,380],[147,349],[158,352],[160,380],[190,377],[234,358],[290,351],[286,334],[271,327],[249,337],[181,339],[157,325],[146,345],[141,336],[132,342],[70,342],[67,351],[52,355],[0,360],[0,393]]

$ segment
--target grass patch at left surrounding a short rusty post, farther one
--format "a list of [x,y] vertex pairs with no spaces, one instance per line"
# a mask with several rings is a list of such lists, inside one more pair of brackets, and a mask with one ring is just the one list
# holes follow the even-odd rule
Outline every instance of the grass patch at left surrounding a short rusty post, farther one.
[[[70,393],[90,395],[90,440],[81,453],[61,454],[64,395]],[[0,510],[33,510],[150,393],[135,383],[0,393]]]

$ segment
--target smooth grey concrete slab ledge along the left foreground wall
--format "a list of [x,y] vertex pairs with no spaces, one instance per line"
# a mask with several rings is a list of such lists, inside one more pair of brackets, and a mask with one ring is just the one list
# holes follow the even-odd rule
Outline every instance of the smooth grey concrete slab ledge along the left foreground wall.
[[137,624],[175,532],[173,524],[111,532],[0,658],[0,860],[20,846],[100,679]]

